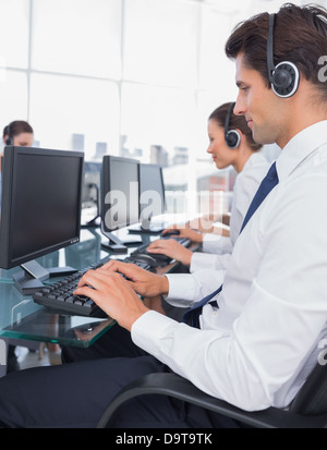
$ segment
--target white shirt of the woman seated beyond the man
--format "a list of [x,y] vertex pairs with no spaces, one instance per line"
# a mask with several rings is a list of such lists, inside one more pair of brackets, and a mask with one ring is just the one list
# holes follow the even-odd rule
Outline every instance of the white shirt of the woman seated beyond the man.
[[203,253],[195,252],[192,255],[191,272],[204,268],[227,269],[230,254],[238,239],[247,208],[268,169],[268,161],[262,153],[251,155],[234,183],[230,216],[230,236],[226,238],[214,233],[204,234]]

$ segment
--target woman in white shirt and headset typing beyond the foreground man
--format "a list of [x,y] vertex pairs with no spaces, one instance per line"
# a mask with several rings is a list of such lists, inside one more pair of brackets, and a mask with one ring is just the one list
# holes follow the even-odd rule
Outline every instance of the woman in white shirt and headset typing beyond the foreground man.
[[[223,104],[209,115],[209,146],[207,148],[217,169],[232,166],[238,173],[233,186],[229,235],[223,235],[221,228],[215,230],[211,226],[207,227],[206,221],[201,227],[204,232],[185,226],[173,226],[165,230],[164,234],[170,229],[178,229],[180,236],[202,243],[203,252],[191,252],[174,240],[157,240],[147,247],[149,253],[165,254],[190,266],[191,272],[204,268],[226,270],[250,203],[269,169],[268,161],[259,151],[263,146],[253,141],[244,117],[235,115],[232,112],[233,107],[233,102]],[[234,136],[233,143],[230,141],[231,135]],[[198,222],[201,226],[202,218]]]

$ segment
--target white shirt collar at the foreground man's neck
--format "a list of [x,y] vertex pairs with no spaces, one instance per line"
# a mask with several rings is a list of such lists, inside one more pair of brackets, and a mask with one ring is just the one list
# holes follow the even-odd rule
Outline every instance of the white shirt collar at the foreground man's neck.
[[300,162],[324,143],[327,143],[327,120],[317,122],[292,137],[276,161],[279,181],[284,180]]

